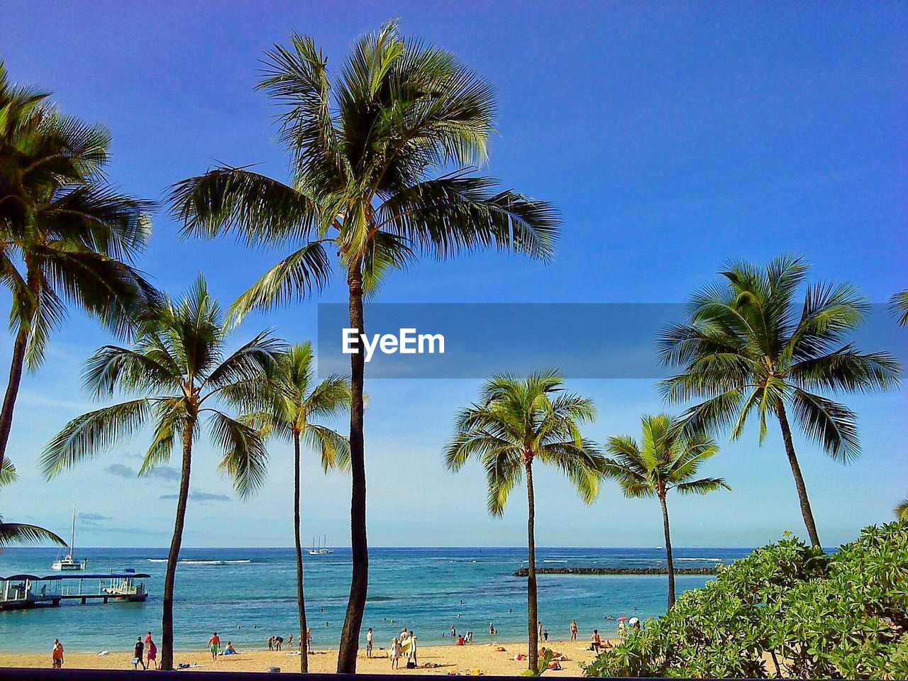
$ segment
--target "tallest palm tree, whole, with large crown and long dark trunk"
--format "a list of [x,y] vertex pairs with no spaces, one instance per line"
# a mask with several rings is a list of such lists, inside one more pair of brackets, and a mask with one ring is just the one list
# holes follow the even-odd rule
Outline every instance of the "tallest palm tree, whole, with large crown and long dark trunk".
[[[281,105],[291,183],[220,167],[178,183],[171,196],[186,234],[233,232],[248,244],[292,248],[234,303],[236,319],[321,290],[331,252],[346,275],[350,328],[359,333],[363,297],[419,254],[447,258],[491,246],[551,256],[554,209],[469,172],[487,158],[495,99],[454,55],[403,38],[390,23],[360,39],[333,84],[310,37],[275,45],[266,64],[260,87]],[[364,368],[362,354],[350,354],[353,569],[341,673],[356,670],[369,582]]]

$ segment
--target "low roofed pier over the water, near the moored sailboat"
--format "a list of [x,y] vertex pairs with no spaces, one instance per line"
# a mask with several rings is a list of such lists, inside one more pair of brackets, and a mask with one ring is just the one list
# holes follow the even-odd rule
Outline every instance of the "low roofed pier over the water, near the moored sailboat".
[[136,580],[148,577],[151,576],[134,570],[44,577],[25,574],[0,577],[0,611],[58,607],[64,601],[75,601],[83,606],[89,601],[142,602],[148,597],[148,592],[144,582]]

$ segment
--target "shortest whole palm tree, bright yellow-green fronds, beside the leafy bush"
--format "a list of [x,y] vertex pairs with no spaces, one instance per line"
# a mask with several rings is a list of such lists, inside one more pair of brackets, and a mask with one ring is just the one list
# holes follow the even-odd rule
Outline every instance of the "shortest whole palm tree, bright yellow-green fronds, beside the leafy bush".
[[668,608],[675,605],[675,563],[668,530],[666,496],[671,489],[681,494],[707,494],[716,489],[731,489],[722,478],[696,478],[706,459],[716,455],[716,441],[704,433],[685,435],[678,420],[666,414],[645,416],[640,444],[629,435],[609,438],[606,449],[615,455],[607,459],[606,474],[616,478],[626,497],[657,497],[662,506],[666,532],[668,566]]

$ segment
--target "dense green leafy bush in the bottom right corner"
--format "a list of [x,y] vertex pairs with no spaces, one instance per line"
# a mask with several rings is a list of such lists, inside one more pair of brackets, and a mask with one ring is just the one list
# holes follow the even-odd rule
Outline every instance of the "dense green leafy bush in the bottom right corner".
[[720,568],[587,676],[908,677],[908,522],[833,555],[786,533]]

